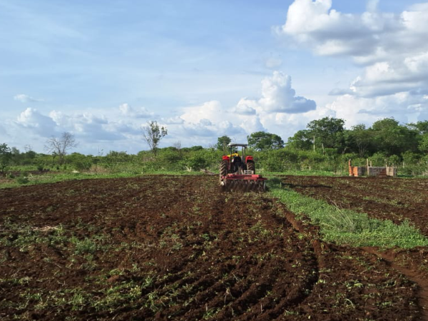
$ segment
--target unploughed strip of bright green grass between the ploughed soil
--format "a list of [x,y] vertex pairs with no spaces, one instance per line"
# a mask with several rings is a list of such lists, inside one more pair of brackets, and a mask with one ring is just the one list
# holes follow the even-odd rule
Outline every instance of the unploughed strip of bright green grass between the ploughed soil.
[[288,210],[306,215],[313,224],[320,226],[326,242],[352,246],[379,246],[382,248],[414,248],[428,246],[428,238],[419,233],[409,221],[401,225],[391,220],[369,218],[366,213],[344,210],[315,200],[294,190],[283,188],[279,179],[268,181],[270,194],[284,203]]

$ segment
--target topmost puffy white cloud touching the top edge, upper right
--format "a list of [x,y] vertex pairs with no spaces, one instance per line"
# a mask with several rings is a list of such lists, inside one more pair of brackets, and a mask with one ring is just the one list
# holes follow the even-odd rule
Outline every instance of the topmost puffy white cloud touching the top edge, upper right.
[[366,56],[379,47],[394,46],[392,36],[405,31],[402,17],[379,13],[375,1],[363,14],[342,14],[332,9],[331,0],[295,0],[287,21],[275,30],[291,36],[322,56]]

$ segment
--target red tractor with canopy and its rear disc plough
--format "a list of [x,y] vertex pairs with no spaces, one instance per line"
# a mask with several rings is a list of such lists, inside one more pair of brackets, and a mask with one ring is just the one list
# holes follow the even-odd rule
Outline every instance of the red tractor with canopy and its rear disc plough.
[[[230,143],[230,154],[220,163],[220,185],[225,190],[265,190],[267,178],[255,174],[253,156],[246,156],[248,144]],[[241,155],[238,147],[242,147]]]

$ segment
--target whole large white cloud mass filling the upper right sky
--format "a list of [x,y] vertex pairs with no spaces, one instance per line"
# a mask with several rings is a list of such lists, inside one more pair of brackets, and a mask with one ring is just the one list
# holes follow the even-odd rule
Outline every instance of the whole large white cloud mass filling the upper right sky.
[[333,88],[326,108],[347,124],[372,123],[394,116],[416,121],[427,116],[428,4],[401,14],[379,12],[367,2],[362,14],[332,9],[331,0],[295,0],[285,24],[275,28],[300,48],[321,56],[350,58],[362,72],[349,88]]

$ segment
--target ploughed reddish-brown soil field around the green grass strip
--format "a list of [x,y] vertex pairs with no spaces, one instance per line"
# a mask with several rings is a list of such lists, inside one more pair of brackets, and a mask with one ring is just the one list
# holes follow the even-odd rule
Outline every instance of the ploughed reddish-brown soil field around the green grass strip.
[[[428,233],[426,180],[282,184]],[[74,180],[0,199],[1,320],[427,320],[427,248],[326,243],[269,193],[224,193],[217,176]]]

